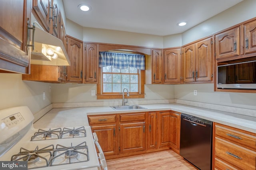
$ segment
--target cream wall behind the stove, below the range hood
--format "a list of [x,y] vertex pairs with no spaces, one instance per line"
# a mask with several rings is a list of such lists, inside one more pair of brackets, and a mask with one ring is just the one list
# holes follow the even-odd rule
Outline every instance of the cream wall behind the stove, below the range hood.
[[22,74],[16,73],[0,73],[0,81],[0,109],[28,106],[36,113],[52,103],[49,83],[22,81]]

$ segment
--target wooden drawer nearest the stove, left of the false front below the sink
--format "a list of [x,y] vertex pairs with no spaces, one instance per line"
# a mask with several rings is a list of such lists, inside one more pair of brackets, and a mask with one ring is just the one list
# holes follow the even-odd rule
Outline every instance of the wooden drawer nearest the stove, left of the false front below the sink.
[[116,115],[88,116],[90,125],[102,123],[116,123]]

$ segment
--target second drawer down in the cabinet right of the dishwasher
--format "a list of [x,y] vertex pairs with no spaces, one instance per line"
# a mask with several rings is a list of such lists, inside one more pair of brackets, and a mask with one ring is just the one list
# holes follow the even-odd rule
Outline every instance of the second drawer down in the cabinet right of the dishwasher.
[[218,137],[215,137],[215,156],[242,170],[255,170],[256,168],[256,152]]

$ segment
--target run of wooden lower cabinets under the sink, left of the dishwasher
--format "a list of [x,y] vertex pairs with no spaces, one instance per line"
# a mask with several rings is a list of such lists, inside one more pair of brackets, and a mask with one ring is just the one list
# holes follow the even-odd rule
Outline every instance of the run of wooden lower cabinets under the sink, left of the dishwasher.
[[88,115],[106,159],[180,149],[180,113],[150,111]]

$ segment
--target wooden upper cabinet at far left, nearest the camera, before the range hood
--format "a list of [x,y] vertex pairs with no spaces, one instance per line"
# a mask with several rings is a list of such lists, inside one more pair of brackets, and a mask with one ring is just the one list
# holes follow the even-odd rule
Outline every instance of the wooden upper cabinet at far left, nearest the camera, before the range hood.
[[0,0],[0,4],[0,69],[28,74],[32,2]]

